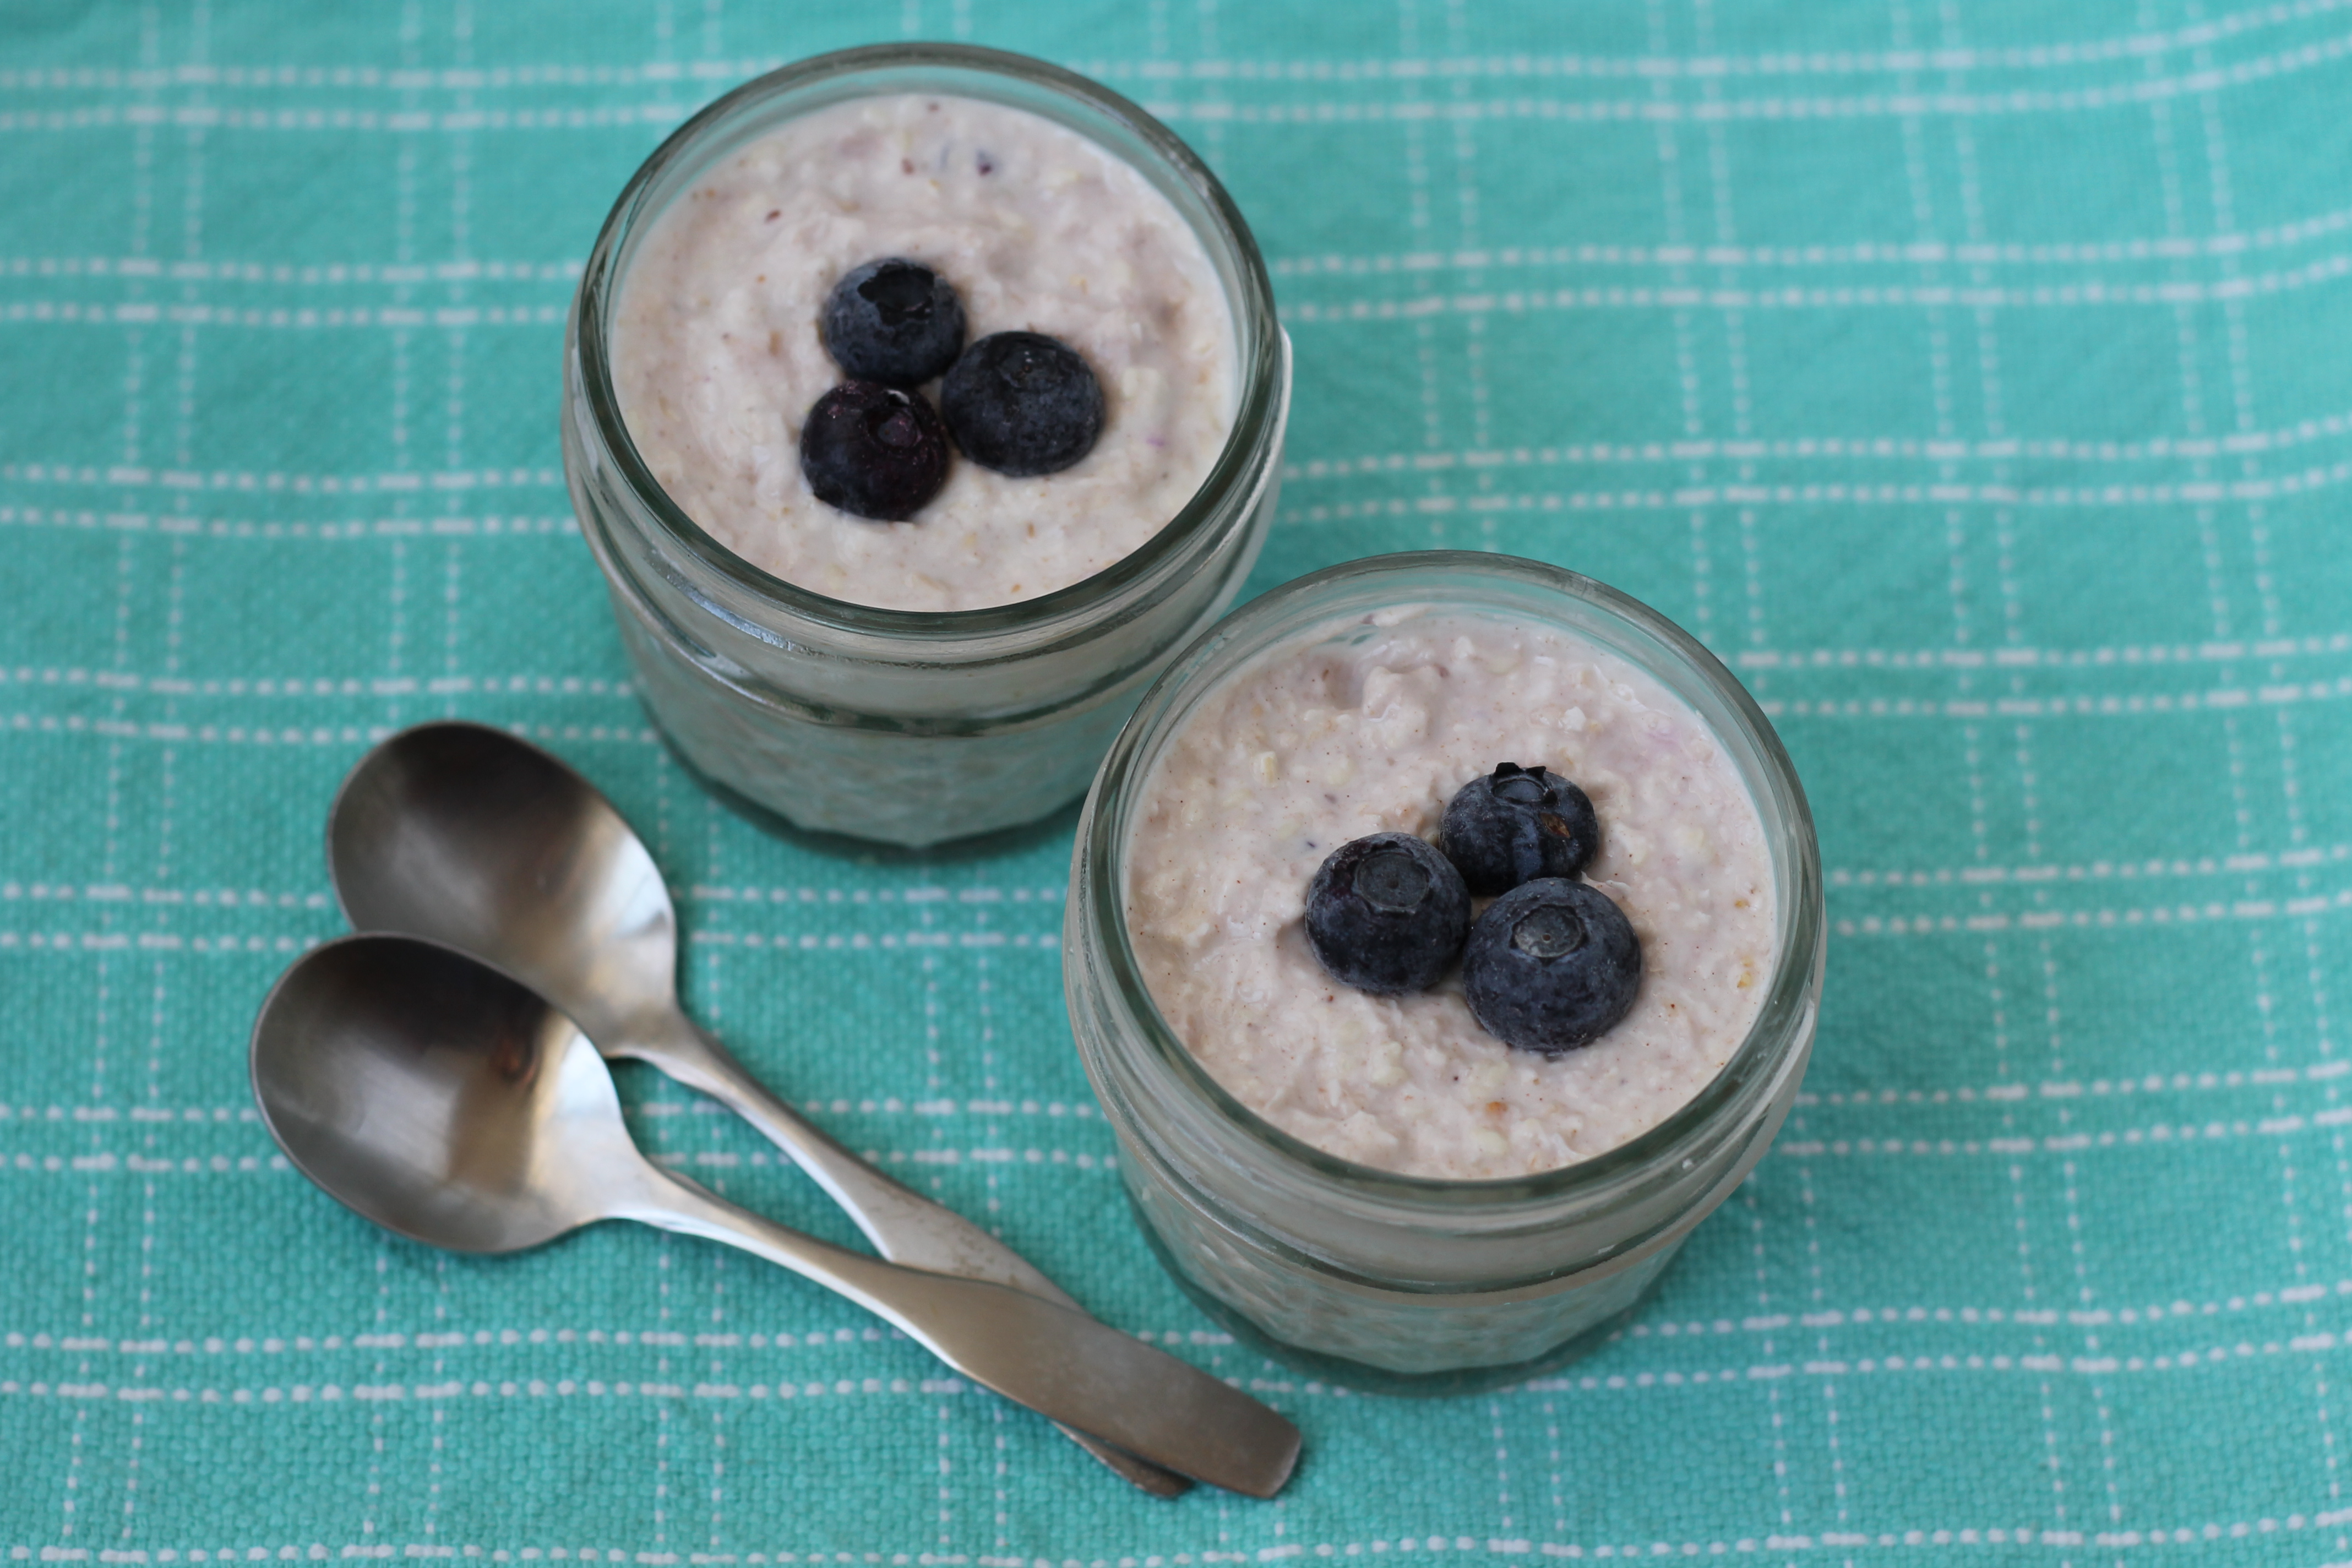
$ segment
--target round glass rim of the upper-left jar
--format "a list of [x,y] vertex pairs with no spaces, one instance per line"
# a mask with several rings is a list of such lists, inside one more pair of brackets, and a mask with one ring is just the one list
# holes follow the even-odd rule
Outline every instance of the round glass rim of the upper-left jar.
[[[1216,461],[1200,482],[1200,489],[1195,489],[1183,508],[1178,508],[1178,512],[1138,548],[1110,562],[1101,571],[1056,588],[1054,592],[1037,595],[1035,599],[948,611],[884,609],[877,604],[835,599],[811,588],[802,588],[800,583],[790,583],[736,555],[713,538],[699,522],[694,522],[694,517],[689,517],[687,510],[670,498],[661,480],[654,477],[654,470],[637,451],[635,437],[628,433],[628,423],[621,418],[621,400],[612,383],[607,315],[609,303],[616,299],[621,287],[616,268],[623,244],[642,221],[661,216],[659,212],[644,212],[661,179],[682,160],[694,158],[715,129],[736,122],[739,115],[753,113],[769,99],[840,82],[861,73],[887,71],[962,73],[969,78],[974,89],[964,96],[990,96],[985,92],[985,82],[990,78],[1014,78],[1030,87],[1044,87],[1051,94],[1073,99],[1082,108],[1117,122],[1120,129],[1136,136],[1145,148],[1150,148],[1150,153],[1164,160],[1169,172],[1181,183],[1190,186],[1202,200],[1214,228],[1209,233],[1202,233],[1197,226],[1192,228],[1204,244],[1223,244],[1228,249],[1232,273],[1240,282],[1240,296],[1228,296],[1228,310],[1232,310],[1235,324],[1242,327],[1242,357],[1235,367],[1240,376],[1240,397],[1235,402],[1232,425],[1225,433],[1225,444],[1218,449]],[[1011,106],[1025,108],[1025,103]],[[1070,129],[1082,136],[1087,134],[1075,125]],[[1089,136],[1089,141],[1094,141],[1094,136]],[[595,247],[588,252],[588,263],[581,270],[579,301],[574,308],[574,343],[581,362],[581,390],[590,409],[590,418],[595,421],[597,440],[602,440],[614,468],[619,468],[628,489],[644,503],[647,515],[654,520],[654,527],[663,531],[668,543],[687,550],[696,562],[729,581],[734,588],[753,595],[755,599],[779,604],[781,609],[807,618],[816,628],[920,644],[955,644],[1002,632],[1040,630],[1063,621],[1077,623],[1101,607],[1120,599],[1136,583],[1152,578],[1152,574],[1178,559],[1202,534],[1214,531],[1225,520],[1225,501],[1230,494],[1256,484],[1258,470],[1265,463],[1268,444],[1279,433],[1287,404],[1282,329],[1275,317],[1275,289],[1265,270],[1265,256],[1258,252],[1258,242],[1251,235],[1249,223],[1242,219],[1232,195],[1228,195],[1225,186],[1216,179],[1209,165],[1204,165],[1181,136],[1167,129],[1138,103],[1110,92],[1101,82],[1028,54],[983,49],[978,45],[903,42],[811,54],[809,59],[757,75],[720,99],[713,99],[684,125],[670,132],[670,136],[663,139],[663,143],[654,148],[642,165],[637,165],[637,172],[630,174],[621,195],[614,200],[612,212],[607,212],[604,223],[597,230]]]

